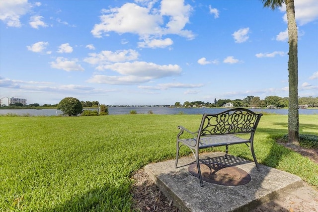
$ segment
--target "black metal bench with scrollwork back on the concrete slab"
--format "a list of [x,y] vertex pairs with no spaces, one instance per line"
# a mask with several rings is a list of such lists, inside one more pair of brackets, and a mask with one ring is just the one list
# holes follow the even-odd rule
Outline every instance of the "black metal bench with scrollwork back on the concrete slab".
[[[262,115],[245,108],[233,108],[218,114],[203,114],[199,130],[196,132],[191,132],[182,126],[178,126],[180,133],[177,135],[175,168],[177,168],[178,164],[180,147],[182,145],[188,146],[196,159],[200,186],[203,186],[199,163],[200,149],[226,146],[225,157],[227,157],[229,145],[245,143],[248,146],[248,143],[250,143],[250,150],[257,171],[259,171],[259,165],[254,153],[253,139]],[[241,137],[239,134],[247,134],[247,137]],[[189,138],[190,136],[191,138]]]

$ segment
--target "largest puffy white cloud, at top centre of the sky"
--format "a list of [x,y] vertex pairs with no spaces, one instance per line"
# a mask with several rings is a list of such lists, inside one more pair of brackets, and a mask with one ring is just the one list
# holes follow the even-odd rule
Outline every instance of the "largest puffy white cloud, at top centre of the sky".
[[172,44],[171,39],[162,40],[162,35],[176,34],[188,39],[194,38],[191,31],[184,30],[192,11],[189,4],[177,0],[161,1],[160,8],[152,8],[153,5],[148,3],[147,7],[143,7],[136,3],[125,3],[121,7],[103,9],[100,23],[94,25],[91,33],[95,37],[107,36],[111,31],[119,34],[138,34],[140,39],[144,40],[139,45],[151,48],[163,48]]

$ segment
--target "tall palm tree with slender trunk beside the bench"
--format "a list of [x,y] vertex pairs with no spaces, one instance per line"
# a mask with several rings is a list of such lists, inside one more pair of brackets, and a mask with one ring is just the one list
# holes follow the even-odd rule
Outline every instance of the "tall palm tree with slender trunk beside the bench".
[[289,82],[289,105],[288,105],[288,143],[299,143],[299,113],[298,113],[298,34],[295,18],[294,0],[262,0],[264,7],[275,9],[286,4],[288,25],[288,82]]

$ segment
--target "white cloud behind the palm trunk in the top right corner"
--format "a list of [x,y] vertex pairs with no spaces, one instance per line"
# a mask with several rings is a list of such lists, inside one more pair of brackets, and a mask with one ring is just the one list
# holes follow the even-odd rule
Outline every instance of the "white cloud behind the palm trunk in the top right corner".
[[[318,1],[317,0],[295,0],[295,17],[300,26],[318,19]],[[285,4],[279,8],[280,11],[286,12]],[[286,13],[283,20],[287,23]]]

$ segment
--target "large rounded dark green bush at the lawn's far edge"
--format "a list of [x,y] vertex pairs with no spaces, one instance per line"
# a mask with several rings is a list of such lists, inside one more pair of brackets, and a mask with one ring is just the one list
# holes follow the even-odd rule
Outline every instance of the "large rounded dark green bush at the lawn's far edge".
[[77,116],[82,112],[83,106],[77,98],[65,97],[60,101],[57,109],[62,111],[65,115]]

